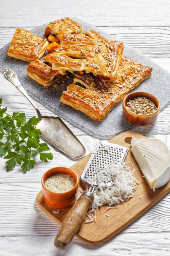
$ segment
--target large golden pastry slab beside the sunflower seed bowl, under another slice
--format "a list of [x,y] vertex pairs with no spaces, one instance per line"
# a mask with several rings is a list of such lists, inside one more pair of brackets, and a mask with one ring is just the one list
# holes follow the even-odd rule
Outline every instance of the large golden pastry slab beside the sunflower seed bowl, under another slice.
[[76,77],[74,81],[82,85],[70,84],[67,91],[62,93],[60,101],[80,110],[92,120],[101,121],[114,105],[150,76],[151,72],[152,67],[143,66],[137,61],[122,56],[119,74],[114,82],[106,81],[104,85],[100,85],[94,80]]

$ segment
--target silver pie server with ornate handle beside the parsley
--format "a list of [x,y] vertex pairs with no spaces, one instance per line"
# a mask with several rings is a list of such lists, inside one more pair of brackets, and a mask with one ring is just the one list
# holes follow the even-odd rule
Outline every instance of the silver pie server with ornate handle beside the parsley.
[[41,115],[40,110],[30,99],[27,92],[20,84],[17,74],[12,69],[4,69],[3,76],[11,82],[35,108],[38,117],[42,119],[36,126],[36,128],[41,130],[42,137],[71,158],[79,159],[85,156],[85,147],[59,117]]

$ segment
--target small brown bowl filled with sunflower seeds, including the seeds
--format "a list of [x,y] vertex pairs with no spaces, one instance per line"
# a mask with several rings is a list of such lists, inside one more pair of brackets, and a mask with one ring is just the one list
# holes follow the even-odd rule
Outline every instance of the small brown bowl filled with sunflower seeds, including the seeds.
[[148,92],[132,92],[122,102],[123,117],[134,125],[150,125],[158,118],[159,100]]

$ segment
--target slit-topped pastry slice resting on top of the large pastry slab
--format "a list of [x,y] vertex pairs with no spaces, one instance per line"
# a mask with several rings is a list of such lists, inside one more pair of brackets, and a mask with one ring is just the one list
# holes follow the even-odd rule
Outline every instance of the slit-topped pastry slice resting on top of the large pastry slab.
[[[78,40],[78,39],[80,40]],[[113,81],[117,77],[119,62],[124,45],[119,41],[101,42],[89,36],[82,44],[82,35],[68,35],[67,45],[57,45],[55,52],[45,56],[45,61],[52,64],[53,70],[69,71],[75,75],[95,79],[99,83],[103,80]],[[70,43],[69,43],[70,42]],[[72,44],[74,42],[74,44]],[[62,41],[61,41],[62,43]]]

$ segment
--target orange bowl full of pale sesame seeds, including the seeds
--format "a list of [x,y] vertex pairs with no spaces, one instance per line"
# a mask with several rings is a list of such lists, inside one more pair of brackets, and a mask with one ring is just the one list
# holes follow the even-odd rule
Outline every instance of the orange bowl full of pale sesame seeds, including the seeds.
[[77,174],[66,167],[55,167],[41,179],[43,197],[47,205],[64,209],[74,204],[78,187]]

